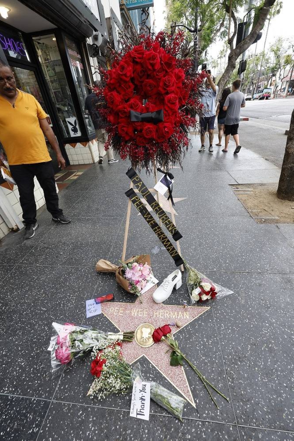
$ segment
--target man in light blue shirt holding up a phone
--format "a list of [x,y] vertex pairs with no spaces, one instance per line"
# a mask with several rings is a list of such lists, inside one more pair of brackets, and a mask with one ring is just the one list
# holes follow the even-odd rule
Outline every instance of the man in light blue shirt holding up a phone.
[[213,152],[212,142],[213,142],[213,130],[214,122],[216,120],[216,95],[219,91],[218,86],[214,83],[215,78],[208,74],[206,79],[205,88],[202,91],[201,103],[204,105],[203,116],[200,118],[200,138],[201,138],[201,149],[199,152],[205,151],[205,132],[208,130],[209,134],[209,149],[208,152]]

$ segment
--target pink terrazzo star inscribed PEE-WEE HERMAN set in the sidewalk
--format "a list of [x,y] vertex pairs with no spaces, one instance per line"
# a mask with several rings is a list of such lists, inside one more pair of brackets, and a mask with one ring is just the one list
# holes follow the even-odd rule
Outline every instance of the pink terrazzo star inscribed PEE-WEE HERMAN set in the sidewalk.
[[[140,299],[137,299],[135,303],[103,303],[101,305],[102,313],[120,331],[135,330],[142,323],[150,323],[155,328],[158,328],[159,326],[179,321],[182,327],[176,328],[173,326],[171,329],[172,333],[175,334],[179,329],[182,329],[209,309],[209,307],[202,306],[155,303],[152,298],[155,289],[156,286],[142,295],[142,303]],[[182,366],[170,366],[170,353],[165,353],[167,348],[169,347],[164,342],[155,343],[149,348],[141,348],[134,340],[131,343],[123,343],[123,355],[128,363],[133,363],[142,355],[145,355],[149,362],[195,407],[184,368]]]

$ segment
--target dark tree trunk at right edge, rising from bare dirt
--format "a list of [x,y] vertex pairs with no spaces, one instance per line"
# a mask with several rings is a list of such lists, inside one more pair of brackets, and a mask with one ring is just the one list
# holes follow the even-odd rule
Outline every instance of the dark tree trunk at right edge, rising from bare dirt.
[[279,199],[294,201],[294,110],[291,116],[277,196]]

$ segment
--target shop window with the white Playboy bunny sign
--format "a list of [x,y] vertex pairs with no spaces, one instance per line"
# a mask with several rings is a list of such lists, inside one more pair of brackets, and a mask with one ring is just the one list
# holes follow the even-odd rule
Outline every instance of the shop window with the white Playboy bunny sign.
[[33,37],[37,55],[45,78],[48,82],[52,100],[55,102],[60,126],[65,138],[81,136],[77,116],[71,100],[71,93],[67,84],[60,53],[54,34]]

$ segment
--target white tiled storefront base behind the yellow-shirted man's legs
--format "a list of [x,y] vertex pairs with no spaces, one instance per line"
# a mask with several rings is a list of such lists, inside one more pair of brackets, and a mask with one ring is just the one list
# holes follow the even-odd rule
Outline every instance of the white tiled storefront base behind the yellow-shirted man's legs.
[[[37,178],[34,179],[34,183],[35,183],[34,195],[35,195],[36,206],[38,209],[45,204],[45,199],[44,199],[43,190],[41,189],[41,186],[37,181]],[[14,185],[13,190],[8,189],[4,186],[1,186],[1,188],[4,191],[4,194],[8,202],[10,202],[12,209],[15,211],[17,216],[19,216],[19,219],[22,221],[22,207],[20,206],[19,203],[19,191],[17,186]],[[58,192],[59,190],[57,186],[56,189]],[[9,231],[10,228],[7,227],[7,224],[4,222],[2,217],[0,217],[0,239],[2,239],[5,235],[7,235]]]

